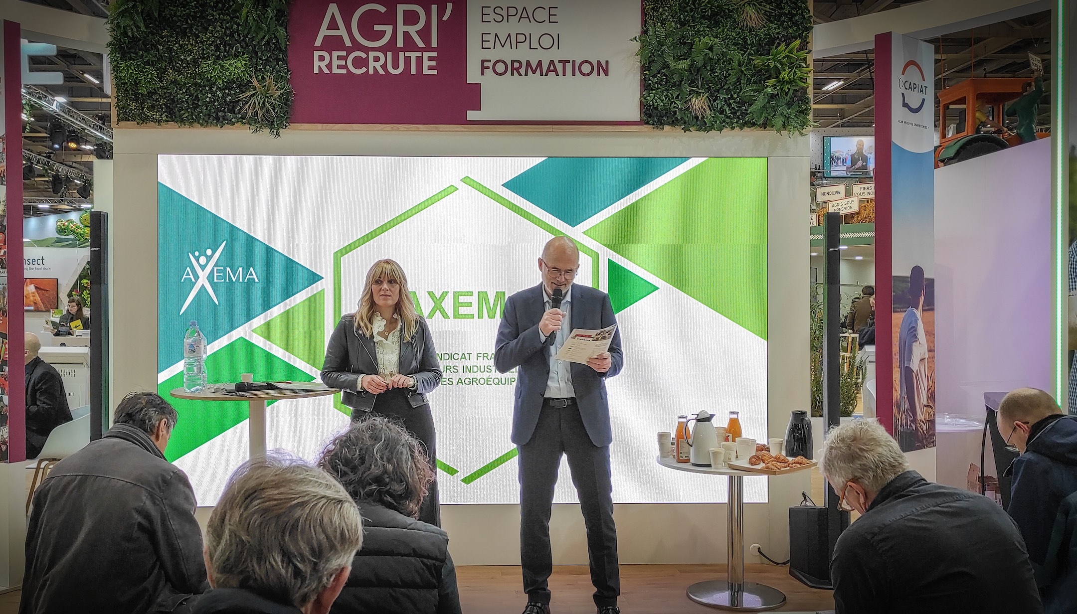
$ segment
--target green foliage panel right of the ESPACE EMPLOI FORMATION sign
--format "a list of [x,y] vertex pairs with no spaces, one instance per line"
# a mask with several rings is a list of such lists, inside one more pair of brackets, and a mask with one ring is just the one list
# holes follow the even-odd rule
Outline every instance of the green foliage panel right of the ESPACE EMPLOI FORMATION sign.
[[645,0],[643,121],[685,130],[811,125],[807,0]]

